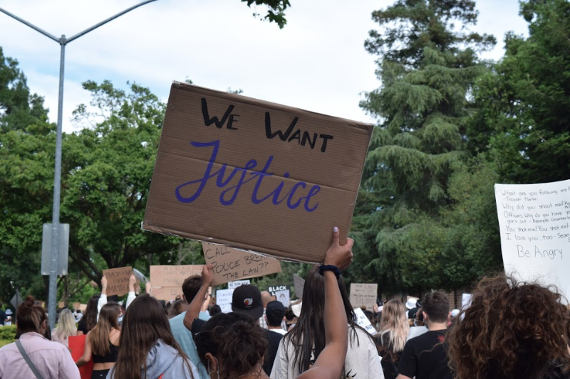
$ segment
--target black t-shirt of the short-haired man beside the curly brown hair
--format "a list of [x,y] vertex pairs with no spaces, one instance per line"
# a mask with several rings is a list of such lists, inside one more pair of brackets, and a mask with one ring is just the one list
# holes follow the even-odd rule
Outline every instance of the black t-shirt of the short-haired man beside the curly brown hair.
[[400,357],[398,373],[416,379],[452,379],[443,341],[445,330],[427,331],[410,339]]

